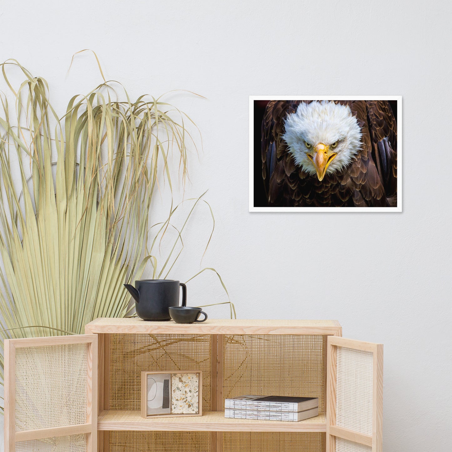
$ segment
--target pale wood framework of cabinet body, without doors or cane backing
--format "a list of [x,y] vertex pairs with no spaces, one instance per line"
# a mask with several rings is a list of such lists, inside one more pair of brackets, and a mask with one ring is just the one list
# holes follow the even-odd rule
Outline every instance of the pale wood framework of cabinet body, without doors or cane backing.
[[[93,320],[86,333],[99,335],[99,419],[98,451],[109,450],[111,430],[206,431],[211,432],[211,452],[222,452],[223,433],[234,432],[326,432],[325,413],[300,422],[226,419],[223,412],[223,339],[229,334],[245,335],[322,335],[326,353],[327,337],[341,336],[337,320],[229,320],[209,319],[195,324],[151,322],[137,318]],[[211,349],[211,411],[187,418],[141,417],[141,412],[112,411],[109,407],[110,334],[210,334]],[[327,375],[325,357],[325,376]],[[326,394],[326,377],[325,377]],[[325,400],[326,405],[326,400]]]

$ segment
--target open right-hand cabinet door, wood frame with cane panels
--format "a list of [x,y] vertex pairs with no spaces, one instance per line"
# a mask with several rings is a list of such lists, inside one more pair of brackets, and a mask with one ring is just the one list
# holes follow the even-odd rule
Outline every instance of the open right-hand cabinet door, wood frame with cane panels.
[[383,345],[328,336],[327,452],[382,452]]

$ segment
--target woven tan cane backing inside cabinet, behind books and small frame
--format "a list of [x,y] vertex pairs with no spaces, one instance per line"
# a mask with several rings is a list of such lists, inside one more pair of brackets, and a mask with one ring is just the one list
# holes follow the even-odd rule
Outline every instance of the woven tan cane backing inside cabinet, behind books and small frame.
[[[223,399],[244,394],[319,397],[325,410],[323,335],[225,335]],[[211,336],[111,334],[110,409],[140,409],[140,373],[201,370],[203,410],[211,404]],[[289,391],[288,391],[289,389]],[[223,407],[218,407],[222,409]],[[224,452],[322,452],[324,433],[217,433]],[[210,452],[209,432],[109,432],[109,452]]]

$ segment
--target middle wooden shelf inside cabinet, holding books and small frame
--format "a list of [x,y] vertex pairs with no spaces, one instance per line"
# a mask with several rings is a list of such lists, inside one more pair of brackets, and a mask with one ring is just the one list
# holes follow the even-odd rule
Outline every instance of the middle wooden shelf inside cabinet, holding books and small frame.
[[198,432],[326,432],[325,413],[299,422],[227,419],[223,411],[202,416],[142,418],[139,411],[108,410],[98,418],[99,430],[166,430]]

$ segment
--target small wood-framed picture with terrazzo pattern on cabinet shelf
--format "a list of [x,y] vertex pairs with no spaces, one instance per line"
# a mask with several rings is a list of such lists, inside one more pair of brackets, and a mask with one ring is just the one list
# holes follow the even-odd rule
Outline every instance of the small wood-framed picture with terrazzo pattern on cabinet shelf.
[[202,372],[141,372],[141,416],[202,416]]

